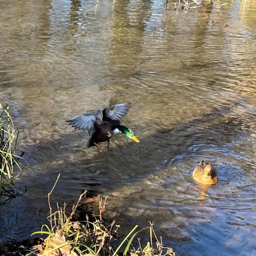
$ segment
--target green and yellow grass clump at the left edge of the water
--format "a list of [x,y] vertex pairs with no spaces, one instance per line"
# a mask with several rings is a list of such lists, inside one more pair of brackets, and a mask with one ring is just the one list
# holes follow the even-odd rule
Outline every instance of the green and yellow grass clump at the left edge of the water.
[[[13,120],[9,114],[9,106],[0,104],[0,195],[8,193],[12,188],[14,167],[20,168],[17,160],[21,157],[15,155],[19,130],[14,128]],[[23,154],[23,153],[22,153]]]

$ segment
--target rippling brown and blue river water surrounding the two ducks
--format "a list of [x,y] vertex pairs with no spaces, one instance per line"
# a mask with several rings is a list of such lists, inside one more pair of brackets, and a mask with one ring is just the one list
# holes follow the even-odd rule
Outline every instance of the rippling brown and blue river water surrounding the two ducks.
[[[256,1],[222,3],[1,2],[0,102],[27,161],[2,239],[40,229],[61,173],[53,205],[88,189],[110,195],[106,215],[123,232],[154,221],[177,255],[256,254]],[[116,135],[99,155],[65,122],[121,102],[140,144]],[[192,179],[201,160],[219,175],[208,190]]]

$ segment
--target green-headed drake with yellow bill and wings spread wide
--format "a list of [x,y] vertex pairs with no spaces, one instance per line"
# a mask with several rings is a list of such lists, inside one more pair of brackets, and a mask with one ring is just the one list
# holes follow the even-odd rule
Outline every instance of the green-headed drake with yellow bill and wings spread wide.
[[130,107],[131,103],[116,104],[104,108],[102,114],[101,110],[89,110],[67,122],[75,129],[88,130],[90,136],[88,147],[95,146],[98,151],[98,143],[108,141],[109,148],[110,137],[117,133],[123,133],[135,142],[140,142],[131,129],[120,123],[120,119],[127,114]]

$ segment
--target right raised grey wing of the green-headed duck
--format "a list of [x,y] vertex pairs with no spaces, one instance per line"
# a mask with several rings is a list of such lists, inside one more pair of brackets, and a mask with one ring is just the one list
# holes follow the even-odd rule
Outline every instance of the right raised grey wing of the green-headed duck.
[[116,104],[105,108],[103,113],[103,119],[106,117],[112,120],[120,120],[124,115],[127,114],[131,107],[131,103]]

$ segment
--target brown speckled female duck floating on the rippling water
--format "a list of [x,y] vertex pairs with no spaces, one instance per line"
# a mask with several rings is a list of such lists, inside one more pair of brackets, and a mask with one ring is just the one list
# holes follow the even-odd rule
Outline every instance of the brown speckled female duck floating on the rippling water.
[[218,183],[217,171],[209,162],[201,161],[193,171],[194,180],[205,185],[215,185]]

